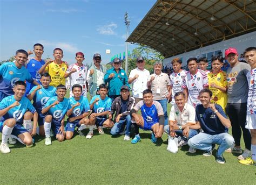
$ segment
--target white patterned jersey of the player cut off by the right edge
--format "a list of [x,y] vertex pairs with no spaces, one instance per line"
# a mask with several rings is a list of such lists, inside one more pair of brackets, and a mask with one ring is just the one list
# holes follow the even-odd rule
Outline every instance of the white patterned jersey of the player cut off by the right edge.
[[248,80],[248,99],[247,99],[247,115],[256,114],[256,68],[251,69],[247,73]]

